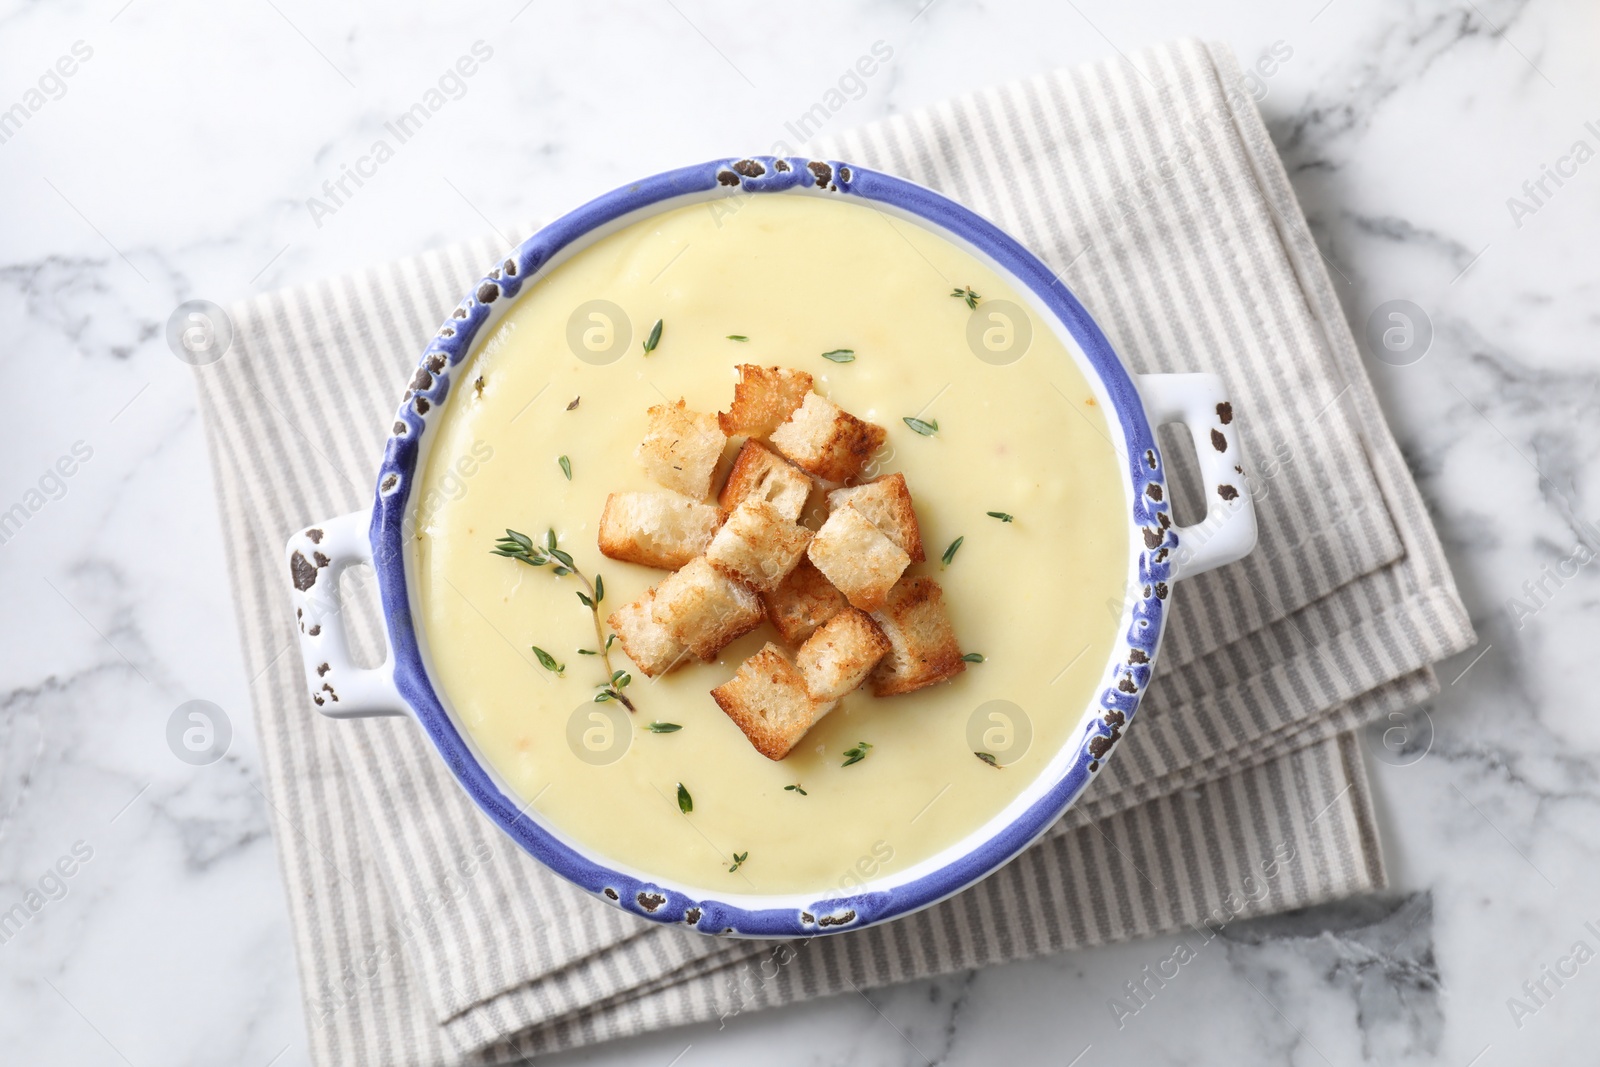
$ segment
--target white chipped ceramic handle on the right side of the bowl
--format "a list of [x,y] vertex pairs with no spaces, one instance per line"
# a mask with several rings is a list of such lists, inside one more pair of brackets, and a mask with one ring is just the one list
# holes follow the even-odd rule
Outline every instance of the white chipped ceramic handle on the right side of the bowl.
[[1238,418],[1216,374],[1141,374],[1150,427],[1182,422],[1200,456],[1205,518],[1178,526],[1173,579],[1242,560],[1256,547],[1256,506],[1238,442]]

